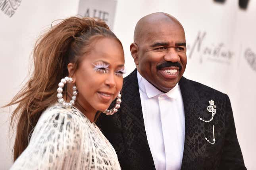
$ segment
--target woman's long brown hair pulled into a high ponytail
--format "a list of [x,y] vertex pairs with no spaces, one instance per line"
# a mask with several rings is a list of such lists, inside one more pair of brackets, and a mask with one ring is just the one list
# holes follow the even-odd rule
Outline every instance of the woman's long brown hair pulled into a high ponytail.
[[[70,17],[44,34],[33,50],[34,70],[25,86],[6,106],[18,104],[11,116],[11,125],[17,121],[13,160],[26,149],[30,134],[48,106],[57,102],[58,83],[68,76],[67,64],[79,67],[93,37],[116,38],[108,25],[100,19]],[[4,106],[4,107],[6,107]]]

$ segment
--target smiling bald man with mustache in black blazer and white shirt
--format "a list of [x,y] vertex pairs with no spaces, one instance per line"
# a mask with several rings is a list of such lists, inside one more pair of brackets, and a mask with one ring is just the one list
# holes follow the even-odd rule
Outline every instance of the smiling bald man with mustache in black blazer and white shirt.
[[183,26],[166,13],[140,19],[121,108],[99,126],[123,170],[244,170],[229,98],[183,77]]

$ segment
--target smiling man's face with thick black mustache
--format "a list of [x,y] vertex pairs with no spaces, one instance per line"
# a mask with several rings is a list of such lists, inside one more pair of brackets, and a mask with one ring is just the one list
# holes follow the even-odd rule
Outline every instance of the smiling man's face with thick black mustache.
[[186,40],[177,23],[150,25],[138,42],[137,69],[157,89],[171,90],[181,79],[187,64]]

